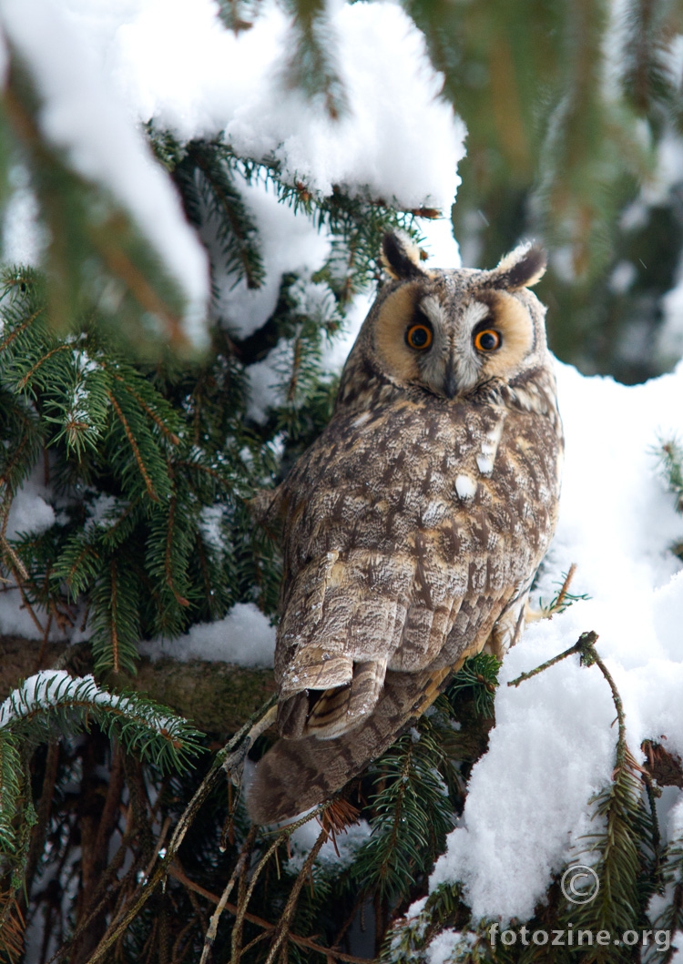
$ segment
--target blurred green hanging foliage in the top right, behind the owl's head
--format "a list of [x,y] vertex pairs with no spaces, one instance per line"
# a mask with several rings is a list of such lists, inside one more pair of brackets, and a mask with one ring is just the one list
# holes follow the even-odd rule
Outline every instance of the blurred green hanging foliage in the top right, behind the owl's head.
[[469,131],[453,207],[467,263],[495,264],[523,232],[542,237],[551,258],[537,291],[560,358],[626,382],[661,371],[675,353],[657,342],[660,298],[683,238],[679,179],[662,197],[655,167],[680,129],[680,4],[407,7]]

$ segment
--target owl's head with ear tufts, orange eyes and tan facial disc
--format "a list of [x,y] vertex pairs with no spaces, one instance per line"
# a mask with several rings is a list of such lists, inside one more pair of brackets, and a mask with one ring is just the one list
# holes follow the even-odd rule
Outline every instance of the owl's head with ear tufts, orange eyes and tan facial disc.
[[347,368],[369,364],[396,386],[452,399],[547,366],[545,308],[527,290],[545,270],[541,249],[522,245],[491,271],[428,270],[407,235],[387,234],[382,260],[392,281]]

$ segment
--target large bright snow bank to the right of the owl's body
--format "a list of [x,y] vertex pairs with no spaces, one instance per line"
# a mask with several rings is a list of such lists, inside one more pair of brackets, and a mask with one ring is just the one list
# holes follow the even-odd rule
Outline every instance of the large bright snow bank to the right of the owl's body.
[[[596,666],[572,656],[518,687],[509,680],[593,629],[623,700],[631,750],[641,759],[642,740],[664,735],[669,752],[683,754],[683,572],[669,551],[683,519],[654,452],[658,439],[683,435],[683,362],[634,387],[560,364],[558,378],[560,523],[536,594],[548,602],[576,562],[571,591],[590,599],[533,623],[505,657],[488,753],[430,880],[431,888],[462,881],[475,919],[527,920],[553,872],[590,863],[581,837],[599,827],[588,800],[609,784],[615,762],[615,707]],[[675,815],[669,832],[677,835]]]

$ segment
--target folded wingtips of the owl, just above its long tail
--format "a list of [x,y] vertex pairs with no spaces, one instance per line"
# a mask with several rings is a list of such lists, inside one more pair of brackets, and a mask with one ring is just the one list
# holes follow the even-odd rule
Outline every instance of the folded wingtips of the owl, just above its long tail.
[[280,688],[281,736],[334,739],[354,730],[374,710],[386,672],[386,659],[354,662],[347,656],[328,656],[319,666],[299,660]]

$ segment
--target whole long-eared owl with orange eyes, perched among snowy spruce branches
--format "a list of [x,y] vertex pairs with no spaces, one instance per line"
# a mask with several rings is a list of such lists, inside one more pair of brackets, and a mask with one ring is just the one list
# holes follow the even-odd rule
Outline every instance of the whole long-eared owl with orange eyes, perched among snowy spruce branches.
[[561,422],[528,290],[542,251],[428,270],[388,234],[382,259],[334,415],[261,513],[283,524],[284,577],[259,823],[328,798],[468,656],[505,653],[557,521]]

